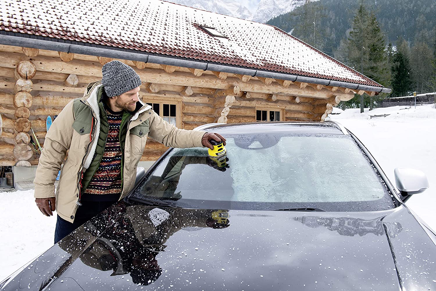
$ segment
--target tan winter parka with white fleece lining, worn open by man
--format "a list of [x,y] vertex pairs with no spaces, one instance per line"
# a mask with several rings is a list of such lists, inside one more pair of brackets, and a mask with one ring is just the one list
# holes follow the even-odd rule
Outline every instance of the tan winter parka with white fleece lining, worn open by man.
[[[80,116],[73,108],[75,106],[74,101],[76,104],[78,102],[75,99],[68,103],[54,120],[45,136],[44,148],[39,158],[34,180],[34,197],[56,197],[58,215],[70,222],[74,221],[78,207],[79,178],[91,164],[97,147],[96,141],[100,132],[97,92],[100,86],[102,86],[101,81],[90,83],[84,96],[79,100],[89,108],[92,117],[94,117],[93,119],[80,120]],[[136,179],[136,167],[142,157],[148,136],[166,147],[203,147],[201,138],[204,132],[178,129],[164,121],[151,109],[150,105],[139,102],[142,107],[130,118],[127,127],[123,192],[119,200],[123,199],[133,189]],[[140,135],[136,133],[138,130],[135,130],[135,127],[141,128]],[[88,131],[86,131],[87,129]],[[142,133],[144,129],[148,133]],[[54,181],[61,169],[67,151],[68,158],[62,168],[55,194]]]

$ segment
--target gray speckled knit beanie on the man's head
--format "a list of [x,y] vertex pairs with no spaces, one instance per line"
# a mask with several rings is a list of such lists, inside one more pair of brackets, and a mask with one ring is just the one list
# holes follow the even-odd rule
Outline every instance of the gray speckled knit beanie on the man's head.
[[108,97],[119,96],[141,85],[141,78],[130,66],[112,61],[103,65],[102,84]]

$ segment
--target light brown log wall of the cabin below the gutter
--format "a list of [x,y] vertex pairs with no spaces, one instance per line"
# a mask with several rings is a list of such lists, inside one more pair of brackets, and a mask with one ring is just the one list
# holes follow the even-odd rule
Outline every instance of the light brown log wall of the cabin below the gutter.
[[[38,159],[33,145],[29,145],[30,127],[43,146],[47,116],[53,118],[72,99],[82,97],[89,82],[101,79],[102,65],[112,58],[7,45],[0,45],[0,58],[0,165],[35,165]],[[281,110],[284,121],[322,121],[332,106],[358,93],[316,84],[119,61],[140,75],[143,101],[177,104],[179,127],[188,130],[212,122],[255,121],[256,106]],[[149,139],[141,161],[154,161],[165,150]]]

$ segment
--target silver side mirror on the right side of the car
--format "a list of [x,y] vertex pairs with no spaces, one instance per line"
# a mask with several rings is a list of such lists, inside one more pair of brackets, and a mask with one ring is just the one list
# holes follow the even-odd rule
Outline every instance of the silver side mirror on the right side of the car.
[[395,184],[401,192],[403,201],[409,199],[410,195],[424,192],[429,188],[429,180],[424,172],[408,169],[396,168],[394,170]]

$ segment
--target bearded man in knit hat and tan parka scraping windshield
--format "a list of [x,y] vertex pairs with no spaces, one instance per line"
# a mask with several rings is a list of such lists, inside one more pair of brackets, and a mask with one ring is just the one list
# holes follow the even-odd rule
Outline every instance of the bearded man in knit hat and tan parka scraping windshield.
[[147,136],[167,147],[212,149],[209,140],[225,142],[219,134],[181,130],[164,121],[140,101],[141,79],[128,65],[109,62],[102,75],[65,106],[45,137],[34,197],[44,215],[58,212],[55,243],[133,189]]

